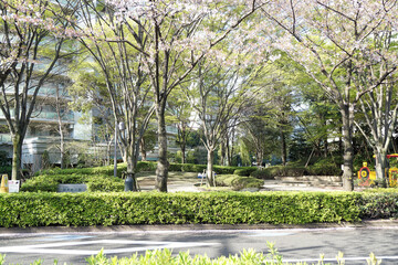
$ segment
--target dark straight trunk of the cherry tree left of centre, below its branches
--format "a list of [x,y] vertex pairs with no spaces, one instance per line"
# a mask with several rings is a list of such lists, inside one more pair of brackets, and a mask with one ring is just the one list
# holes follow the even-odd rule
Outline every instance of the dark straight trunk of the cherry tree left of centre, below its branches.
[[158,163],[156,168],[156,182],[155,188],[160,192],[167,192],[167,178],[168,167],[167,161],[167,134],[166,134],[166,120],[165,108],[161,106],[156,107],[156,116],[158,119]]

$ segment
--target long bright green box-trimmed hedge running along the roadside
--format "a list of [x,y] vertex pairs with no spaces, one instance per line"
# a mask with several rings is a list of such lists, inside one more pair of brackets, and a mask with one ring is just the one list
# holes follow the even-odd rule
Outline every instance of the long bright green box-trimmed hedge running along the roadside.
[[7,193],[0,226],[359,221],[356,192]]

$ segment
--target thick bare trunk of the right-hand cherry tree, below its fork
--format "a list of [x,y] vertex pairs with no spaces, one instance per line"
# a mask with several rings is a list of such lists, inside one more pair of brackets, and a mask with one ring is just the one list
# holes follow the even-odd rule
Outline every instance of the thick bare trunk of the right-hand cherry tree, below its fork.
[[343,119],[343,147],[344,147],[344,166],[343,166],[343,188],[346,191],[354,190],[353,183],[353,159],[354,159],[354,150],[353,150],[353,126],[350,121],[350,113],[348,105],[344,105],[341,108],[342,119]]

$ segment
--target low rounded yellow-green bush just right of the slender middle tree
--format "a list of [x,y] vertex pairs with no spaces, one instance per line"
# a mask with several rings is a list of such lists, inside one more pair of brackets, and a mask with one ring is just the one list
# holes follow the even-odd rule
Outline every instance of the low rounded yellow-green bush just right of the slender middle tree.
[[216,184],[223,187],[231,187],[233,190],[242,190],[245,188],[261,188],[264,181],[251,178],[241,177],[237,174],[218,174],[216,176]]

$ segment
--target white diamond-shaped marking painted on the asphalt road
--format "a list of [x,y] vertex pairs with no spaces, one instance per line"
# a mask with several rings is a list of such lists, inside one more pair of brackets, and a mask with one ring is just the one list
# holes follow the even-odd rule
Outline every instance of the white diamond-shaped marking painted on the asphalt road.
[[[106,248],[104,245],[134,245],[132,247]],[[159,250],[159,248],[187,248],[196,246],[213,246],[219,243],[205,242],[168,242],[168,241],[126,241],[126,240],[100,240],[100,241],[81,241],[81,242],[60,242],[36,245],[19,245],[0,247],[0,253],[34,253],[34,254],[67,254],[67,255],[96,255],[104,248],[105,254],[135,253],[140,251]],[[78,246],[95,245],[97,250],[80,250]],[[138,246],[137,246],[138,245]],[[76,248],[59,248],[77,246]]]

